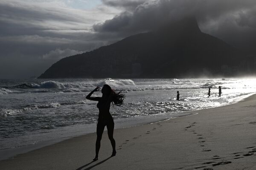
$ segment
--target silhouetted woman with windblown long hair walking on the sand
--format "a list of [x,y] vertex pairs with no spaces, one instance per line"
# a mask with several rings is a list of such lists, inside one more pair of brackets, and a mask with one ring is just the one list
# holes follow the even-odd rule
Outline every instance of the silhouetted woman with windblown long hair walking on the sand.
[[93,159],[93,161],[98,160],[99,155],[99,148],[100,148],[100,141],[102,139],[102,133],[104,131],[105,126],[107,126],[108,129],[108,138],[111,142],[113,152],[111,156],[116,156],[116,142],[113,138],[113,131],[114,131],[114,121],[113,117],[111,116],[109,109],[111,102],[114,103],[116,106],[120,106],[123,104],[123,100],[125,98],[125,95],[116,93],[111,89],[109,85],[103,85],[103,88],[101,90],[102,97],[91,97],[93,92],[99,91],[100,87],[96,87],[93,91],[90,92],[86,96],[86,99],[98,101],[97,108],[99,108],[99,118],[97,122],[97,139],[96,139],[96,156]]

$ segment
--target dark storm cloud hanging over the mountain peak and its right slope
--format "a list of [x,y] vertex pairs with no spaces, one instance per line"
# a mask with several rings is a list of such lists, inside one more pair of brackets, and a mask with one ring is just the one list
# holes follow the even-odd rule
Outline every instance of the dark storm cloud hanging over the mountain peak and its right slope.
[[[104,0],[106,4],[125,6],[123,1]],[[139,2],[139,1],[137,1]],[[256,40],[255,0],[155,0],[139,4],[133,12],[125,11],[93,26],[97,32],[127,35],[149,31],[164,23],[193,16],[201,31],[233,45],[249,47]]]

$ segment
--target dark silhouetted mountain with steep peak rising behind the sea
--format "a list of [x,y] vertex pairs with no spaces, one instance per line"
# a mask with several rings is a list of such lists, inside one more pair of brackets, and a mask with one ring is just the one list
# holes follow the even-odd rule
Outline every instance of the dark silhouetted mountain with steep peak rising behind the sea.
[[201,32],[195,18],[188,18],[63,58],[38,78],[229,76],[246,70],[243,57],[226,42]]

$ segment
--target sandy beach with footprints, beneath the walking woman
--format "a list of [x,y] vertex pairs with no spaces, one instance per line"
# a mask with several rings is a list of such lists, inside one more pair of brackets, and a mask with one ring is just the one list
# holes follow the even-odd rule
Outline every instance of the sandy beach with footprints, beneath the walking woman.
[[1,170],[255,170],[256,95],[218,108],[114,130],[117,154],[105,131],[99,160],[96,133],[0,161]]

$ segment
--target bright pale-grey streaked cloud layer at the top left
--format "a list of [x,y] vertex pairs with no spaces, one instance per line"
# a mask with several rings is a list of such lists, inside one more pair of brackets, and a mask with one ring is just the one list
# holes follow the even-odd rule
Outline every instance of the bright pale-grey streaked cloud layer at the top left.
[[113,16],[108,12],[102,12],[102,8],[75,9],[61,1],[1,0],[0,22],[3,23],[2,26],[15,24],[34,31],[88,30],[92,23],[104,21]]

